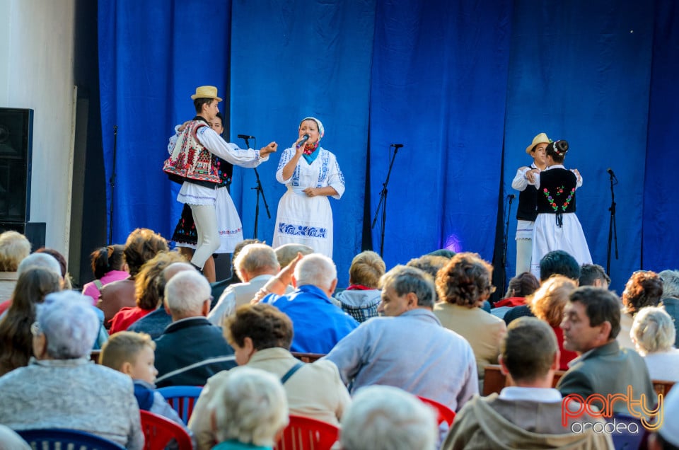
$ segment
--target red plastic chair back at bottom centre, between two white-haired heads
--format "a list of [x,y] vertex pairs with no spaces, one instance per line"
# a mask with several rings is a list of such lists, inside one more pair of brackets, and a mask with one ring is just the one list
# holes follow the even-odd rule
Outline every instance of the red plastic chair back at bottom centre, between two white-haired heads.
[[340,429],[327,422],[290,415],[290,423],[274,450],[330,450],[337,442]]

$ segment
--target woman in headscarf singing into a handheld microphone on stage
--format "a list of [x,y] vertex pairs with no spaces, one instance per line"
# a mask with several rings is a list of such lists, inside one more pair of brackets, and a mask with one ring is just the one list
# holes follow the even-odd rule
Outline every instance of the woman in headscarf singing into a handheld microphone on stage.
[[281,155],[276,179],[288,190],[278,203],[274,248],[301,243],[332,258],[332,209],[327,197],[340,200],[344,175],[335,155],[319,146],[324,134],[320,120],[305,117],[297,141]]

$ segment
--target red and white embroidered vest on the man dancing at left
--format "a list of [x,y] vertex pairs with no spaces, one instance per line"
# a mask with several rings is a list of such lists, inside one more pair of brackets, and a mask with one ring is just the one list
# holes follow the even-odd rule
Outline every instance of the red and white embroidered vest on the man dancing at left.
[[163,172],[176,183],[190,181],[209,188],[221,183],[214,154],[196,138],[200,127],[207,127],[202,120],[193,120],[179,135],[170,157],[163,164]]

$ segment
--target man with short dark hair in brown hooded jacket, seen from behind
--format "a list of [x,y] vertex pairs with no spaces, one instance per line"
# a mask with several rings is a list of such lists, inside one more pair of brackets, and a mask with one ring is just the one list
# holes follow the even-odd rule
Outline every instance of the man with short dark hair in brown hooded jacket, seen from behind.
[[[572,432],[577,422],[603,422],[590,415],[563,415],[562,396],[552,388],[559,367],[555,335],[544,321],[513,321],[502,341],[501,371],[510,386],[472,398],[455,416],[443,450],[453,449],[613,449],[610,435],[589,427]],[[582,405],[569,404],[575,412]],[[562,422],[566,419],[567,422]]]

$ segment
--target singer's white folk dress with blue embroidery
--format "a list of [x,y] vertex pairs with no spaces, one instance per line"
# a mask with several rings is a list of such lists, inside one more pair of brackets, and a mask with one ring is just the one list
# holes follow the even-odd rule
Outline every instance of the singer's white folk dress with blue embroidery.
[[295,154],[294,148],[285,149],[276,171],[276,179],[287,186],[288,191],[278,203],[276,228],[274,229],[274,248],[286,243],[301,243],[332,258],[332,209],[327,196],[308,197],[306,188],[325,188],[332,186],[340,200],[344,193],[344,176],[340,171],[337,158],[330,151],[319,147],[320,152],[313,163],[309,164],[302,156],[292,176],[283,180],[283,168]]

